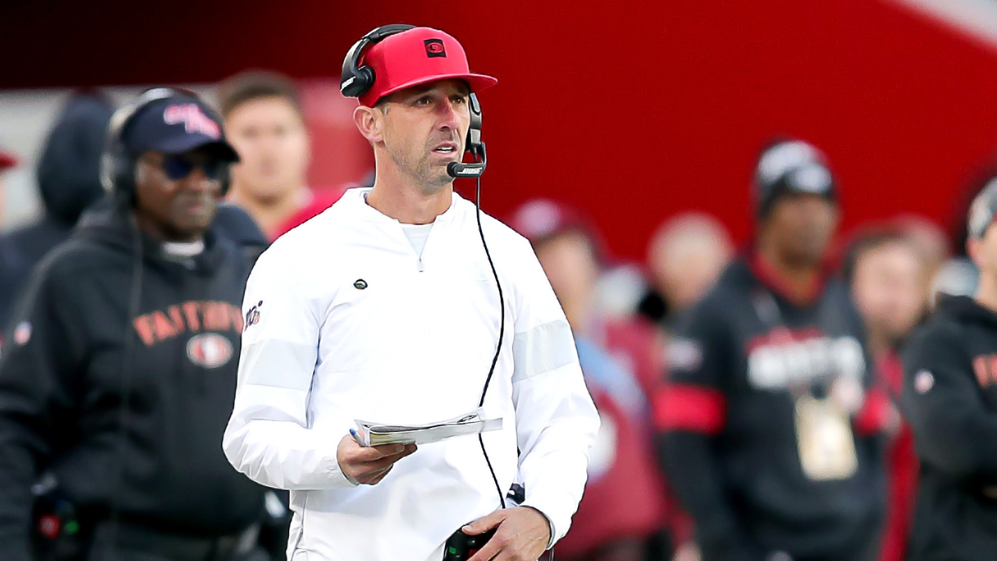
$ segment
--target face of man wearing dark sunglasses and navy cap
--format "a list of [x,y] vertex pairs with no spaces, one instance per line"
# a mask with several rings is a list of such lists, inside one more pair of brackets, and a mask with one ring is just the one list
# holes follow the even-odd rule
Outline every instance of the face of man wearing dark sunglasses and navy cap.
[[166,241],[198,239],[214,220],[226,165],[203,149],[143,154],[136,168],[137,214]]

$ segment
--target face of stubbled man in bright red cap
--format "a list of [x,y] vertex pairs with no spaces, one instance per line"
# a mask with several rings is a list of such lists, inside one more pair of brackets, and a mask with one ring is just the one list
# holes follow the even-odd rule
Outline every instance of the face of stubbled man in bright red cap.
[[447,165],[460,162],[471,126],[468,86],[443,80],[397,92],[376,110],[385,150],[427,194],[453,182]]

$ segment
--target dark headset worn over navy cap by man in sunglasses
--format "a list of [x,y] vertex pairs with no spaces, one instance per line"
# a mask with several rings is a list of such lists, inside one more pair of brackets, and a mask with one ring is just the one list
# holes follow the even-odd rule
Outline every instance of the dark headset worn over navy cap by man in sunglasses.
[[[207,113],[208,118],[221,128],[222,120],[217,113],[208,108],[197,94],[180,88],[158,87],[146,90],[136,100],[116,111],[108,125],[107,142],[104,154],[101,156],[101,185],[104,186],[106,193],[115,196],[124,203],[134,205],[136,192],[136,157],[129,154],[125,146],[129,126],[136,115],[142,113],[151,104],[166,99],[175,99],[178,102],[196,102]],[[221,182],[221,197],[224,197],[231,185],[229,166],[221,167],[219,181]]]

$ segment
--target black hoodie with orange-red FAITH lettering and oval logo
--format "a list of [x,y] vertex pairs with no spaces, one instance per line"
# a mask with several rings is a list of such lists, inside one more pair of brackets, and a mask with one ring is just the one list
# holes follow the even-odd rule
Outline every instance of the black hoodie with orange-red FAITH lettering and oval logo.
[[0,358],[0,559],[28,560],[43,472],[85,520],[220,536],[261,517],[221,451],[249,268],[217,227],[179,260],[110,207],[43,260]]

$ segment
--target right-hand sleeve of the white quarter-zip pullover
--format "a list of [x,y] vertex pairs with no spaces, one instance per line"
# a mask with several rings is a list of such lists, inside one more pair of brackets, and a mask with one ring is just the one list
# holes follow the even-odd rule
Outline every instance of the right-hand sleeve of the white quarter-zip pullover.
[[522,506],[550,522],[548,548],[567,533],[587,480],[599,415],[585,387],[574,338],[528,246],[514,284],[512,400]]

